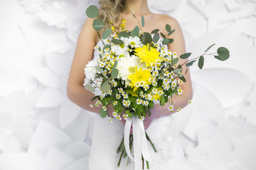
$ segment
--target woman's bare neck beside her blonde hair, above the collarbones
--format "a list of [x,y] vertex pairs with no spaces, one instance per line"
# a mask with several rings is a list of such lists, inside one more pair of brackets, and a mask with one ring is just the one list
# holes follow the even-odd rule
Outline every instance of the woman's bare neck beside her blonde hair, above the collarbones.
[[124,13],[134,13],[135,16],[150,13],[146,0],[126,0],[124,4]]

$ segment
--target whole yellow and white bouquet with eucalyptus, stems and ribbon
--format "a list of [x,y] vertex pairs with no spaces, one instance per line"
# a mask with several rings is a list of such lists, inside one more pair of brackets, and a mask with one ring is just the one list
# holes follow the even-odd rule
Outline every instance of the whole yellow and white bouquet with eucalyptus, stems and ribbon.
[[[151,33],[142,32],[143,16],[141,25],[138,24],[139,26],[133,30],[125,30],[124,19],[119,26],[114,26],[112,21],[103,23],[97,18],[96,6],[89,6],[86,13],[88,17],[95,18],[92,26],[103,44],[102,47],[95,46],[99,55],[85,67],[84,86],[95,94],[92,101],[98,99],[91,107],[101,107],[100,116],[105,118],[107,106],[112,105],[114,112],[112,117],[109,117],[110,121],[114,118],[127,120],[124,138],[117,148],[117,152],[121,153],[118,166],[122,157],[128,155],[127,163],[130,159],[142,159],[142,163],[135,162],[135,169],[136,167],[141,169],[142,166],[144,169],[144,159],[149,169],[150,156],[146,140],[149,140],[152,147],[154,144],[144,130],[142,120],[146,117],[146,113],[151,115],[150,109],[154,107],[154,101],[159,101],[161,106],[169,103],[170,112],[174,112],[174,108],[177,112],[181,111],[181,108],[176,107],[172,97],[183,96],[181,84],[186,82],[184,74],[187,73],[187,69],[183,70],[183,65],[189,67],[193,62],[198,61],[198,67],[202,69],[204,56],[214,55],[216,59],[224,61],[229,57],[228,49],[219,47],[216,53],[206,54],[213,44],[203,55],[187,60],[183,64],[177,64],[180,58],[187,59],[191,53],[178,57],[176,52],[171,52],[167,45],[174,40],[166,38],[164,33],[159,33],[159,29],[152,30]],[[134,16],[133,13],[132,15]],[[138,19],[137,21],[139,23]],[[100,35],[102,29],[104,32]],[[166,24],[166,32],[171,35],[175,30]],[[188,100],[188,103],[191,101]],[[133,124],[133,135],[129,134],[131,124]],[[132,144],[134,144],[134,157],[131,154]],[[154,150],[156,152],[155,148]]]

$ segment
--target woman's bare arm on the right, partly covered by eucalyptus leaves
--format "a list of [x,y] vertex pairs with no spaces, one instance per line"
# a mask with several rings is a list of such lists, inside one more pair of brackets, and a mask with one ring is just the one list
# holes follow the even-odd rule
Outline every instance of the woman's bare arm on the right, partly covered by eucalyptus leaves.
[[[174,42],[172,42],[171,44],[168,44],[169,50],[171,50],[171,52],[177,52],[178,56],[182,55],[183,53],[186,52],[186,49],[185,49],[185,41],[183,38],[181,27],[179,26],[178,22],[174,18],[171,18],[170,16],[164,17],[163,23],[164,24],[169,23],[171,25],[171,29],[175,30],[173,34],[171,34],[170,36],[167,36],[167,38],[174,39]],[[183,62],[186,62],[186,61],[187,61],[186,59],[180,59],[178,60],[177,64],[183,64]],[[186,64],[184,64],[182,68],[183,68],[182,74],[184,74],[186,72],[186,69],[188,69],[188,67],[186,67]],[[188,72],[184,75],[184,77],[186,79],[186,82],[183,82],[183,84],[181,85],[181,89],[183,90],[182,95],[186,96],[188,100],[191,100],[191,98],[193,97],[193,91],[192,91],[191,76],[190,76],[189,69],[188,69]],[[183,108],[188,104],[188,100],[183,96],[180,96],[180,95],[173,96],[173,102],[176,105],[176,107],[174,106],[173,113],[176,112],[177,108]],[[171,98],[170,98],[170,102],[167,102],[164,107],[160,106],[160,104],[155,104],[154,108],[151,109],[151,112],[154,113],[152,114],[152,119],[154,120],[154,118],[160,118],[161,116],[170,115],[171,112],[168,110],[170,103],[171,103]]]

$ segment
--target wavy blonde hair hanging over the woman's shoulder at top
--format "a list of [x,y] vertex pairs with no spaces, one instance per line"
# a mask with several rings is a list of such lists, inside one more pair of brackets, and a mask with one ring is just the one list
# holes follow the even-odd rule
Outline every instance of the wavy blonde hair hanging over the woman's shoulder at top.
[[125,0],[100,0],[98,17],[105,23],[107,20],[115,23],[124,9]]

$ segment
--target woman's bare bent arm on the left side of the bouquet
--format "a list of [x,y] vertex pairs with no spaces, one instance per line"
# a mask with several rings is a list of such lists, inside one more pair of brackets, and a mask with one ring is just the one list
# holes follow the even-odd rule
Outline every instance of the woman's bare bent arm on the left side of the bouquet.
[[81,108],[100,113],[100,108],[90,107],[90,104],[94,104],[97,101],[91,101],[95,95],[87,91],[82,85],[85,79],[85,65],[92,60],[97,40],[97,33],[92,28],[92,22],[92,18],[87,18],[78,37],[75,56],[68,77],[67,94],[70,101],[73,101],[73,103]]

